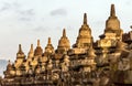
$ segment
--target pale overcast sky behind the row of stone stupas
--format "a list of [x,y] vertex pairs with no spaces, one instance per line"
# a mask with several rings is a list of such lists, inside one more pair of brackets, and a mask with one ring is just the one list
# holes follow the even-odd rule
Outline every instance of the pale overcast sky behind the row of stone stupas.
[[56,49],[65,28],[70,45],[76,42],[86,12],[95,40],[103,33],[110,6],[124,32],[132,24],[132,0],[0,0],[0,60],[14,61],[18,45],[28,54],[37,39],[44,49],[47,37]]

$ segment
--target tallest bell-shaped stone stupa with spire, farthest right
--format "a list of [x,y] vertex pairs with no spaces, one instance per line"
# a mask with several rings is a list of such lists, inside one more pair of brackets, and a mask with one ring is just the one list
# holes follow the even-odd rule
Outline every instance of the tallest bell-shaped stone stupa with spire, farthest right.
[[[120,21],[116,15],[114,4],[111,4],[110,17],[106,21],[105,33],[116,33],[117,40],[122,40],[123,30],[120,28]],[[107,35],[106,35],[107,36]]]

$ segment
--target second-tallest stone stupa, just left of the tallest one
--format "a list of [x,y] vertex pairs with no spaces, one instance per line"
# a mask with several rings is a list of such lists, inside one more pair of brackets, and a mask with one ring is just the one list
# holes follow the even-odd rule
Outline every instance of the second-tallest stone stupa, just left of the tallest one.
[[76,44],[73,47],[85,47],[89,49],[89,45],[92,43],[91,29],[87,24],[87,13],[84,13],[84,24],[79,29],[79,34],[76,40]]

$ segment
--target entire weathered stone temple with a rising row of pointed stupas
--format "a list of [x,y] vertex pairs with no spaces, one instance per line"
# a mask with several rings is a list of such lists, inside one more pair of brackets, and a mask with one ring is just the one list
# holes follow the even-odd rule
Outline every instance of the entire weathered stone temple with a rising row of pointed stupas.
[[76,43],[70,46],[66,29],[54,49],[51,37],[43,50],[40,40],[28,56],[21,44],[14,63],[9,61],[2,86],[131,86],[132,31],[123,33],[111,4],[100,40],[94,42],[84,14]]

